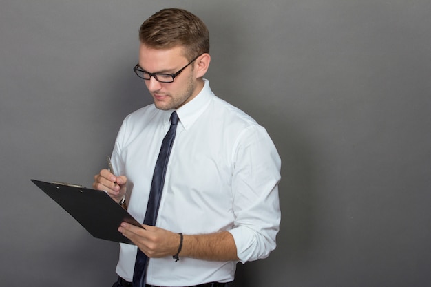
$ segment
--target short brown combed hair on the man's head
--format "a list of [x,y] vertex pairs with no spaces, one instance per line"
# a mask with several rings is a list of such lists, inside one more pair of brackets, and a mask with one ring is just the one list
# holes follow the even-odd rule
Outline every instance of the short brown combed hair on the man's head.
[[160,10],[145,20],[140,26],[139,40],[155,49],[183,46],[190,61],[209,52],[207,26],[196,15],[178,8]]

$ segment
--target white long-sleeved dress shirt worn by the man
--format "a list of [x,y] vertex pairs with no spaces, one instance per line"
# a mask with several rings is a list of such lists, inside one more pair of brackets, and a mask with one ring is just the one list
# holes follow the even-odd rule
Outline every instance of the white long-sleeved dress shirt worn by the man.
[[[253,118],[202,91],[176,110],[179,118],[156,226],[185,235],[229,231],[240,262],[267,257],[280,225],[280,157]],[[128,211],[143,222],[157,156],[174,110],[148,105],[125,118],[112,163],[127,176]],[[116,273],[132,281],[136,246],[120,244]],[[237,262],[180,256],[149,259],[147,284],[193,286],[233,281]]]

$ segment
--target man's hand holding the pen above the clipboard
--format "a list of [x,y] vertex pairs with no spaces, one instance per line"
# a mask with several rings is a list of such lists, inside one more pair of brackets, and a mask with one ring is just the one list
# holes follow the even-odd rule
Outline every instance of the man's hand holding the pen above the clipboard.
[[126,194],[126,183],[125,176],[114,176],[109,170],[102,169],[94,176],[93,189],[106,191],[113,200],[120,202]]

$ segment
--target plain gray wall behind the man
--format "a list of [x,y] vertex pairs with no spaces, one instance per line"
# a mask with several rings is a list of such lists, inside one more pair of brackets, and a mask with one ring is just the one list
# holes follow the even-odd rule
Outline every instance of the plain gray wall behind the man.
[[211,33],[207,78],[282,157],[282,225],[234,286],[429,286],[429,0],[1,0],[1,286],[111,286],[118,246],[30,182],[90,186],[151,103],[138,27],[181,7]]

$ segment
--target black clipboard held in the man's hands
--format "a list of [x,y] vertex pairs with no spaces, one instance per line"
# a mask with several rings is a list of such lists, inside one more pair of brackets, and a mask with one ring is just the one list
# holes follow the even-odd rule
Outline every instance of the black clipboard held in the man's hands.
[[32,182],[96,238],[133,244],[127,237],[118,232],[118,226],[121,222],[127,222],[143,228],[105,191],[61,182],[50,183],[40,180],[32,180]]

